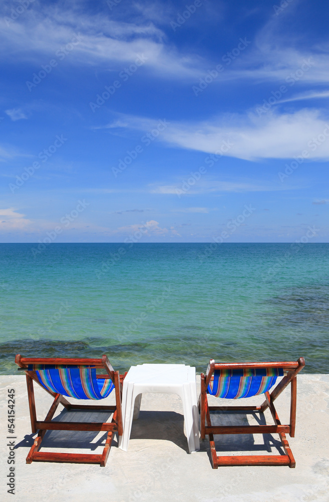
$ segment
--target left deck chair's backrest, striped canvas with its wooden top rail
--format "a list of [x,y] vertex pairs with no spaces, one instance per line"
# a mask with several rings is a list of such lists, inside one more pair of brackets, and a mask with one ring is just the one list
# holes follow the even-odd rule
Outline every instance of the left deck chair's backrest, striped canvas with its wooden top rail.
[[[15,362],[50,393],[76,399],[104,399],[115,388],[114,369],[106,355],[102,359],[28,358],[20,354]],[[107,375],[96,375],[103,368]]]

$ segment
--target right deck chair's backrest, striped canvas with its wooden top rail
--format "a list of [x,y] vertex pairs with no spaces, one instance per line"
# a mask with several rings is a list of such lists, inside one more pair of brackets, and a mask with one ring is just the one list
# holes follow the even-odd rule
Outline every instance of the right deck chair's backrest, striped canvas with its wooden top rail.
[[210,359],[206,373],[207,393],[226,399],[263,394],[273,387],[278,376],[297,366],[298,362],[219,364]]

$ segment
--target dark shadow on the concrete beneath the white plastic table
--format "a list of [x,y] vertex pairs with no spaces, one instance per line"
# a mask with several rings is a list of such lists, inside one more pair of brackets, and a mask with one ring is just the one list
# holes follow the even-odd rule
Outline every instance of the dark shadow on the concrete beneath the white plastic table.
[[173,411],[140,411],[139,418],[133,420],[130,439],[171,441],[189,453],[184,416]]

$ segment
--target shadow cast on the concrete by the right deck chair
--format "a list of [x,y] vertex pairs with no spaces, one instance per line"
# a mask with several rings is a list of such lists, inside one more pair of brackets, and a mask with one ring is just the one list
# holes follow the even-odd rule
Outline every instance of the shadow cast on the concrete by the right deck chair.
[[[248,413],[244,411],[235,411],[234,413],[229,411],[212,411],[211,423],[212,425],[231,425],[231,426],[247,426],[250,425],[248,422],[248,415],[252,416],[256,420],[258,425],[266,425],[265,416],[263,413]],[[263,437],[263,443],[255,444],[253,434],[218,434],[214,435],[215,447],[217,452],[244,452],[250,454],[259,452],[268,452],[276,455],[285,455],[284,450],[281,445],[280,439],[275,439],[272,434],[257,434],[257,437]],[[207,436],[206,436],[207,439]],[[204,442],[201,441],[201,444]],[[210,458],[210,448],[209,442],[207,441],[208,456]],[[203,449],[203,447],[202,447]]]

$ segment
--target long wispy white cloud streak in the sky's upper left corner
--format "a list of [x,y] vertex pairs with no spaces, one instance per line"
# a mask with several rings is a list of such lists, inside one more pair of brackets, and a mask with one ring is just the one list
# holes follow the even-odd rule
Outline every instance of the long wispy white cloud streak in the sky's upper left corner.
[[[56,51],[78,35],[80,41],[69,53],[70,64],[100,65],[120,71],[133,63],[138,55],[146,58],[145,66],[164,77],[196,78],[195,63],[199,58],[179,54],[174,46],[164,43],[165,35],[150,21],[125,23],[111,20],[110,10],[99,15],[85,15],[77,6],[57,9],[40,6],[29,16],[17,19],[8,27],[0,19],[2,58],[15,58],[36,64],[56,58]],[[75,39],[76,41],[77,39]],[[27,51],[28,48],[28,51]],[[45,61],[40,62],[41,55]],[[63,63],[62,63],[63,64]]]

